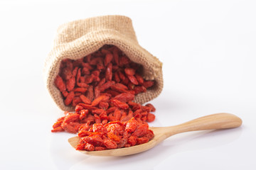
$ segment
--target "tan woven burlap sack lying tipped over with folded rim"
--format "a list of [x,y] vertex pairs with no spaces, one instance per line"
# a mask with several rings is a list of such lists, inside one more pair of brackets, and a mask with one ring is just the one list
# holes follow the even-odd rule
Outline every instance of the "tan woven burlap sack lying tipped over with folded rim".
[[144,79],[156,81],[153,88],[138,94],[134,99],[135,102],[146,103],[161,93],[163,89],[162,63],[139,45],[131,19],[126,16],[87,18],[65,23],[58,28],[53,49],[48,54],[44,65],[46,87],[61,110],[74,111],[73,107],[65,106],[60,91],[54,85],[60,61],[65,58],[78,60],[106,44],[119,47],[130,60],[142,64]]

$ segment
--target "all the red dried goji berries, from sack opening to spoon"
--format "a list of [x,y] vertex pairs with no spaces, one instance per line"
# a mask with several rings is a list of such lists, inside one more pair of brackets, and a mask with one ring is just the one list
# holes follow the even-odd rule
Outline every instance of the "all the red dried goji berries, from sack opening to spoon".
[[[75,113],[65,112],[54,123],[52,132],[78,132],[84,139],[78,149],[86,150],[129,147],[149,141],[153,132],[146,122],[154,121],[151,112],[155,108],[149,103],[142,106],[133,102],[135,95],[154,85],[154,81],[142,78],[141,69],[140,64],[112,45],[80,60],[63,60],[54,83],[65,105],[74,106]],[[99,129],[104,132],[99,134]]]

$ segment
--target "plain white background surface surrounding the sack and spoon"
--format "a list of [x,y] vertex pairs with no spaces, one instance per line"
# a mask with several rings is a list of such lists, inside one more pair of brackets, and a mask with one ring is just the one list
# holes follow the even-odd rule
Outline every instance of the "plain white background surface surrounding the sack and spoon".
[[[256,169],[256,1],[0,1],[0,169]],[[151,101],[168,126],[233,113],[240,128],[187,132],[128,157],[88,157],[51,133],[63,111],[43,82],[58,26],[132,18],[140,45],[164,63]]]

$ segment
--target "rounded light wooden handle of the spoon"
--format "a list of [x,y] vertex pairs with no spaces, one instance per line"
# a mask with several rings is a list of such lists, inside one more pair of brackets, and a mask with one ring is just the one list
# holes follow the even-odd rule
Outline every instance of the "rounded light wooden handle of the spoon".
[[181,125],[171,126],[170,135],[181,132],[195,130],[218,130],[227,128],[237,128],[242,125],[242,120],[238,116],[230,113],[216,113],[197,118]]

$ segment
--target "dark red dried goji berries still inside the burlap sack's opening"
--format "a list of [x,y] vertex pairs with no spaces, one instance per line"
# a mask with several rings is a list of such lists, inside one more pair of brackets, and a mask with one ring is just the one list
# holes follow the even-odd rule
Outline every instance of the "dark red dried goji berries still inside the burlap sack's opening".
[[80,60],[63,60],[54,83],[65,105],[75,107],[102,95],[146,92],[154,81],[145,81],[138,73],[141,69],[142,65],[129,60],[117,47],[105,45]]

